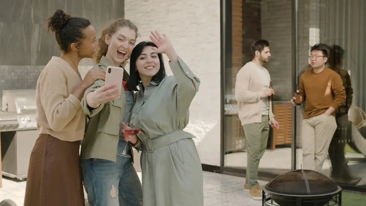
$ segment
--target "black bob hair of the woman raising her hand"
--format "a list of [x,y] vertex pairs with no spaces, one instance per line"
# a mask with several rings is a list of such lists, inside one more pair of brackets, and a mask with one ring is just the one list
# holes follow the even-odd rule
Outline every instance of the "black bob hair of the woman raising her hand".
[[[128,78],[127,85],[132,91],[138,91],[137,86],[141,82],[140,74],[137,71],[136,61],[138,57],[141,55],[143,48],[147,46],[157,47],[151,41],[142,41],[138,43],[135,48],[131,52],[130,57],[130,78]],[[164,60],[163,55],[158,54],[159,62],[160,62],[160,69],[158,73],[156,73],[152,78],[151,81],[155,83],[160,83],[166,76],[165,67],[164,67]]]

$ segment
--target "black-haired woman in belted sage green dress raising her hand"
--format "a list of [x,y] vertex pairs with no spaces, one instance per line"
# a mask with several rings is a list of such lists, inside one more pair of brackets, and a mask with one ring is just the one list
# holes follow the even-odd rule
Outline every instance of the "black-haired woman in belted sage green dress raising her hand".
[[[183,131],[200,81],[165,34],[151,32],[150,39],[153,42],[141,42],[133,49],[128,80],[137,91],[132,113],[141,116],[141,130],[137,136],[124,133],[124,139],[142,151],[143,205],[203,206],[195,136]],[[168,56],[173,76],[166,76],[162,54]]]

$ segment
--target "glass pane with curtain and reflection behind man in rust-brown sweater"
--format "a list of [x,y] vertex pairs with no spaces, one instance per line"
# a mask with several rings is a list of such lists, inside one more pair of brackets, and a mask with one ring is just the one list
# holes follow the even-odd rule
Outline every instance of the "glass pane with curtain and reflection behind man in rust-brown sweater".
[[[324,43],[330,55],[327,67],[336,71],[346,90],[346,101],[336,111],[337,129],[329,146],[321,172],[333,180],[365,187],[366,172],[366,115],[365,115],[365,1],[306,1],[299,0],[299,48],[297,61],[299,76],[311,66],[305,59],[309,47]],[[310,8],[306,10],[306,8]],[[307,17],[308,16],[308,17]],[[303,24],[304,22],[308,22]],[[301,122],[304,104],[298,110]],[[301,140],[301,124],[296,134]],[[297,161],[302,164],[302,145],[298,145]]]

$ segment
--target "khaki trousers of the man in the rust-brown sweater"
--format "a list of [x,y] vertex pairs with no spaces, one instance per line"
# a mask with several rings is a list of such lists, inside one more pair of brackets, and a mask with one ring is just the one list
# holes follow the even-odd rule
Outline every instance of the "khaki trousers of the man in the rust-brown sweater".
[[337,128],[333,115],[321,114],[302,121],[302,168],[320,172]]

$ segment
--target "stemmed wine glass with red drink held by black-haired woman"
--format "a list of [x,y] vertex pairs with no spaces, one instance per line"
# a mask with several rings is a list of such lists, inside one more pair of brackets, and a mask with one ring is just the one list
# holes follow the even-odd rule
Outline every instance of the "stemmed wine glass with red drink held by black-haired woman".
[[[128,136],[137,135],[141,128],[141,116],[130,112],[127,113],[126,115],[127,117],[124,117],[124,119],[128,119],[128,122],[125,122],[127,128],[123,128],[124,133]],[[117,152],[117,154],[123,157],[131,157],[130,155],[127,154],[127,145],[128,140],[126,142],[126,146],[124,147],[123,152],[122,153]]]

